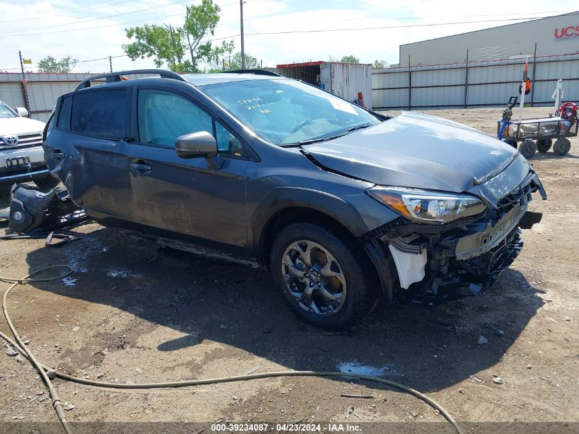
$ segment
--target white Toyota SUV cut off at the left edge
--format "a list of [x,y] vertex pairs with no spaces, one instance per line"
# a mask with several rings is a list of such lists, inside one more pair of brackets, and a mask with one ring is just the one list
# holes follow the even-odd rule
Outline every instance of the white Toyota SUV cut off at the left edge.
[[33,180],[41,189],[55,184],[42,150],[45,123],[28,119],[28,111],[0,101],[0,185]]

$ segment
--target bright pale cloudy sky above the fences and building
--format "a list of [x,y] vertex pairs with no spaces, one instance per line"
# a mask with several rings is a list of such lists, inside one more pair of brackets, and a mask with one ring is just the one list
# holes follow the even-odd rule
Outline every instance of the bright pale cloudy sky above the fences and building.
[[[145,23],[183,21],[185,5],[201,0],[0,0],[0,70],[19,70],[18,51],[36,62],[45,56],[78,60],[122,56],[129,42],[124,29]],[[233,39],[240,49],[239,1],[217,0],[221,20],[212,38]],[[567,3],[553,1],[426,1],[426,0],[246,0],[245,51],[275,64],[328,60],[354,54],[360,62],[398,62],[404,43],[515,23],[517,18],[570,12]],[[524,12],[520,10],[523,9]],[[494,21],[493,21],[494,20]],[[506,21],[509,20],[509,21]],[[475,22],[479,21],[479,22]],[[486,22],[480,22],[486,21]],[[462,24],[450,24],[462,22]],[[469,23],[464,23],[469,22]],[[409,27],[439,24],[428,27]],[[405,27],[400,27],[405,26]],[[360,27],[398,27],[360,29]],[[328,29],[338,32],[267,34]],[[505,45],[508,45],[506,41]],[[151,60],[113,58],[116,70],[154,67]],[[108,71],[107,60],[79,62],[75,72]]]

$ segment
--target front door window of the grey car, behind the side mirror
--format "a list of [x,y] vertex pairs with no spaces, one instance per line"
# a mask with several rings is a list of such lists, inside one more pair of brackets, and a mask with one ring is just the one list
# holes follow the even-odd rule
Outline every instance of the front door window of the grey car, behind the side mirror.
[[171,92],[138,92],[138,132],[141,143],[174,147],[175,138],[190,132],[213,133],[210,115],[188,99]]

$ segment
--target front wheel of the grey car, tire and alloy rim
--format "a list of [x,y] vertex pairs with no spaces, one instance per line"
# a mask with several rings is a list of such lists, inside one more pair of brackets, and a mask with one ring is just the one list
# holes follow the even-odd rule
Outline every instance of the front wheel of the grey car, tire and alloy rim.
[[297,315],[316,326],[347,328],[378,300],[363,254],[323,226],[291,224],[273,242],[271,273]]

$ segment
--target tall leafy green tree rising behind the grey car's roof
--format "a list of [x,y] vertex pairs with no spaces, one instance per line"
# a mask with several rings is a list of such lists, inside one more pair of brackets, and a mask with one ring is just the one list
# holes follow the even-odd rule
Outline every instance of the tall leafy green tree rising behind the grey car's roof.
[[134,42],[123,44],[123,50],[132,60],[153,58],[158,68],[167,63],[172,71],[199,72],[202,62],[211,62],[216,56],[211,42],[202,40],[214,34],[219,12],[219,5],[203,0],[198,6],[186,7],[181,27],[145,24],[125,29]]

